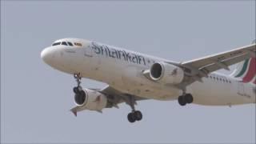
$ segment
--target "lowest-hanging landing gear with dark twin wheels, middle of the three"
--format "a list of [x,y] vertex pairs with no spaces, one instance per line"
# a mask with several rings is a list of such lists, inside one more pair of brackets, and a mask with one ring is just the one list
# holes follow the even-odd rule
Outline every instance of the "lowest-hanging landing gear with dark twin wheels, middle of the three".
[[142,120],[142,112],[139,110],[135,110],[135,100],[134,96],[129,95],[129,102],[127,102],[128,105],[130,105],[132,111],[127,115],[129,122],[135,122]]

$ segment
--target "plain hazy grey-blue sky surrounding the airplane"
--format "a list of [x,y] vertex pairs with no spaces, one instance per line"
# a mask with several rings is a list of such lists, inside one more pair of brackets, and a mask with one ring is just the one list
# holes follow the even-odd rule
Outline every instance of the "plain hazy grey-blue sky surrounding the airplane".
[[143,119],[133,124],[126,104],[75,118],[73,76],[40,58],[59,38],[186,61],[250,44],[255,1],[1,1],[1,142],[255,142],[255,104],[149,100],[138,102]]

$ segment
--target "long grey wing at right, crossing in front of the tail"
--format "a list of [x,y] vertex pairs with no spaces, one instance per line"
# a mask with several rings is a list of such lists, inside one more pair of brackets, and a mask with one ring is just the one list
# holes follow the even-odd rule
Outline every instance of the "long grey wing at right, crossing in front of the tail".
[[230,70],[229,66],[242,62],[247,58],[255,58],[255,55],[256,48],[254,43],[235,50],[182,62],[179,66],[181,66],[186,75],[190,77],[190,80],[187,81],[187,84],[190,84],[194,81],[202,81],[202,77],[208,77],[208,74],[216,70]]

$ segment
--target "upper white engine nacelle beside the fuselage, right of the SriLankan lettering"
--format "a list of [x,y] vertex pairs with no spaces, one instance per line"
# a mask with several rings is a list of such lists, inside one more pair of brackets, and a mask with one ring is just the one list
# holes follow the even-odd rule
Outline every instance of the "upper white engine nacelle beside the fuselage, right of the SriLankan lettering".
[[165,62],[156,62],[150,67],[150,78],[161,83],[178,84],[184,78],[184,71]]

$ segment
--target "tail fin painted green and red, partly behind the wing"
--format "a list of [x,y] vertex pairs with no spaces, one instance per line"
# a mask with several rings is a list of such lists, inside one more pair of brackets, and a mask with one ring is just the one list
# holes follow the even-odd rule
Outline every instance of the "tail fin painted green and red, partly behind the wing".
[[256,58],[246,59],[245,61],[238,63],[237,68],[230,74],[230,76],[241,78],[242,82],[252,82],[256,84]]

